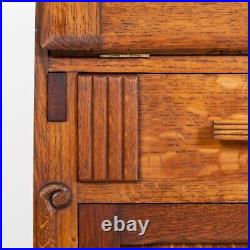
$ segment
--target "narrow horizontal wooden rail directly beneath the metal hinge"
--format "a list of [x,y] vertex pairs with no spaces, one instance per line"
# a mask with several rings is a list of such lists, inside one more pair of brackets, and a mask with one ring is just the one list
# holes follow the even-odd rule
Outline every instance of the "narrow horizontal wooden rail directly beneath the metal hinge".
[[248,73],[247,56],[151,56],[150,58],[49,59],[49,71],[99,73]]

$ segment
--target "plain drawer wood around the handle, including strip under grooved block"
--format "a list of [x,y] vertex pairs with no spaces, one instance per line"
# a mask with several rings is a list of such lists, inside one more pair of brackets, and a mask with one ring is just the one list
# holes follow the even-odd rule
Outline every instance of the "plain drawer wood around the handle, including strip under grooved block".
[[247,119],[247,75],[145,74],[138,81],[140,183],[80,185],[79,201],[247,201],[247,143],[213,135],[214,120]]

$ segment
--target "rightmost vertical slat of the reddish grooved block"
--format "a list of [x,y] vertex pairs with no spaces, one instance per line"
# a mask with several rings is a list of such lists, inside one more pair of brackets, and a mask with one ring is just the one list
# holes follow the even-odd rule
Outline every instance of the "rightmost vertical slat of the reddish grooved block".
[[137,77],[124,78],[124,180],[138,179]]

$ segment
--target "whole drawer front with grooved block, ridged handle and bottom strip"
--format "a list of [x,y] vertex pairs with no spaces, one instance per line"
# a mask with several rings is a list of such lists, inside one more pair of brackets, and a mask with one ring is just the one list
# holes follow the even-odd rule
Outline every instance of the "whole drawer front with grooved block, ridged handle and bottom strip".
[[247,201],[247,89],[246,74],[80,75],[80,200]]

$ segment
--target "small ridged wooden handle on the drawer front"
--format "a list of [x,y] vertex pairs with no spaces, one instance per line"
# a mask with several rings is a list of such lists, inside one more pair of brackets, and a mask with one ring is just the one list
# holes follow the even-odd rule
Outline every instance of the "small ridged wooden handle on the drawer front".
[[248,120],[216,120],[214,138],[223,141],[248,141]]

